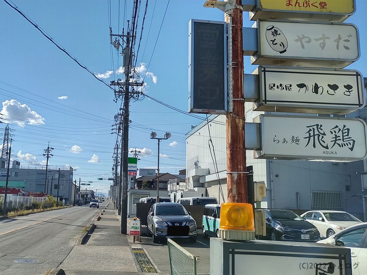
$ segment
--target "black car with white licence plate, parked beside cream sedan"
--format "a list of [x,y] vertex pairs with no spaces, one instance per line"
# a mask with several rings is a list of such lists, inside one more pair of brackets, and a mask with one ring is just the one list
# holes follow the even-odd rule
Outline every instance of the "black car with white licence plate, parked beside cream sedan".
[[266,236],[272,241],[317,242],[320,232],[317,228],[290,210],[258,209],[265,212]]

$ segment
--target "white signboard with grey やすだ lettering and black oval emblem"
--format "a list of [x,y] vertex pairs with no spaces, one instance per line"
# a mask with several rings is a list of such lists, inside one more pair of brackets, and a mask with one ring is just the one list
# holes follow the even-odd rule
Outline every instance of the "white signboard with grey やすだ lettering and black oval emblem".
[[341,69],[360,57],[358,29],[346,23],[257,21],[252,65]]

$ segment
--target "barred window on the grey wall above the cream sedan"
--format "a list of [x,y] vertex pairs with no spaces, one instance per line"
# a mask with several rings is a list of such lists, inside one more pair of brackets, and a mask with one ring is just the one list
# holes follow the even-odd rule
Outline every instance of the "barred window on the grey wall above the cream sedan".
[[311,209],[343,210],[342,191],[311,190]]

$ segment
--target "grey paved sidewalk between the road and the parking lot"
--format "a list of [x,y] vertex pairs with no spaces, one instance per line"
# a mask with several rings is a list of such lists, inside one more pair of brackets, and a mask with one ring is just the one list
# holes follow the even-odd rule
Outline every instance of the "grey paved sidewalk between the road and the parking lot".
[[[101,209],[103,211],[103,209]],[[94,231],[85,245],[76,245],[58,268],[66,275],[138,275],[132,250],[120,234],[119,216],[112,203],[94,221]]]

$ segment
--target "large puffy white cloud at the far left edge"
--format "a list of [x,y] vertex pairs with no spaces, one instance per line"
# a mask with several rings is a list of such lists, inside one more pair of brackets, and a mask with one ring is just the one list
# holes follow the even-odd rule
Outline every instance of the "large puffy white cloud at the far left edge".
[[15,99],[5,100],[3,102],[1,114],[3,114],[3,122],[15,122],[22,127],[24,127],[26,122],[28,124],[45,124],[43,117],[35,111],[30,110],[26,104],[21,104]]

